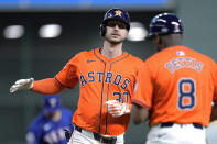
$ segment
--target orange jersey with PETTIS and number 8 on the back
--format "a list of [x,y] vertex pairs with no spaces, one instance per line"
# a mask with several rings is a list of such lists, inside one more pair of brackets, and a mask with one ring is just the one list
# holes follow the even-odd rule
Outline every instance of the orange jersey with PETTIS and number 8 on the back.
[[215,62],[185,46],[165,48],[143,63],[132,102],[150,109],[150,125],[162,122],[207,126],[217,103]]

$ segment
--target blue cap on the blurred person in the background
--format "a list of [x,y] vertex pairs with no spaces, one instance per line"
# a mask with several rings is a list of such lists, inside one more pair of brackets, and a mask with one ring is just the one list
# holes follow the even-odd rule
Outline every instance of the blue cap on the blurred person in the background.
[[44,111],[54,112],[61,108],[61,98],[58,95],[44,96]]

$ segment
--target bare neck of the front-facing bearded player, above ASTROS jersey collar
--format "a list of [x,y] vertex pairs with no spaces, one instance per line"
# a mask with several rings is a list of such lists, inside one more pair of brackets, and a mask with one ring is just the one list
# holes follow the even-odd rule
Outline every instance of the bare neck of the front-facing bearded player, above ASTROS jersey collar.
[[119,55],[122,55],[122,43],[120,44],[104,43],[104,47],[101,48],[100,53],[107,58],[113,58]]

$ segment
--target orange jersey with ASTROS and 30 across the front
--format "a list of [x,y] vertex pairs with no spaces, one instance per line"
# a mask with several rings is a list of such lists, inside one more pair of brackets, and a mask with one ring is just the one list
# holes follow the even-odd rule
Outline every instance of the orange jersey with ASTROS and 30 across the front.
[[141,59],[126,52],[109,59],[100,54],[99,48],[73,57],[55,77],[68,88],[74,88],[79,81],[80,96],[73,122],[104,135],[116,136],[126,132],[130,114],[112,118],[106,101],[131,103],[141,64]]

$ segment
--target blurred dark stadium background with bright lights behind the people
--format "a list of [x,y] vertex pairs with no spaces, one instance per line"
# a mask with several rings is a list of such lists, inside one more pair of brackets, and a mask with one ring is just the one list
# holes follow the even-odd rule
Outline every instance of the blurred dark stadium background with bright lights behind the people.
[[[174,12],[184,23],[184,44],[217,62],[217,1],[215,0],[0,0],[0,144],[23,144],[26,126],[42,109],[42,98],[30,91],[9,93],[20,78],[53,77],[80,51],[102,45],[99,25],[110,8],[128,10],[131,29],[124,49],[143,60],[154,53],[145,40],[151,18]],[[137,33],[134,35],[134,33]],[[78,87],[61,93],[74,110]],[[217,124],[208,129],[216,144]],[[126,144],[142,144],[147,123],[130,123]],[[216,139],[216,140],[215,140]]]

